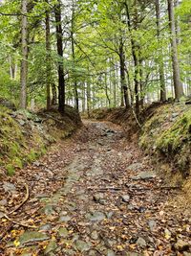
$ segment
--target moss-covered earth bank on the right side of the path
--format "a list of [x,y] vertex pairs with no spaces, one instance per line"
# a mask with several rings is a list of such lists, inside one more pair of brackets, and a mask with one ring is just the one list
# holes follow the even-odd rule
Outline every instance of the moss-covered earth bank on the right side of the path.
[[191,174],[191,109],[185,105],[162,105],[149,118],[139,139],[140,147],[167,162],[182,177]]

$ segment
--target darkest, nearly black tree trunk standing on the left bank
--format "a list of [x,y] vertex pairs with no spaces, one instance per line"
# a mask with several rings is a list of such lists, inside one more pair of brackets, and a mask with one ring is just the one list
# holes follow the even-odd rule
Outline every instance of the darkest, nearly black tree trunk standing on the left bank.
[[56,40],[58,54],[58,110],[63,113],[65,108],[65,79],[63,66],[63,41],[62,41],[62,20],[61,20],[61,0],[57,1],[54,7],[56,22]]

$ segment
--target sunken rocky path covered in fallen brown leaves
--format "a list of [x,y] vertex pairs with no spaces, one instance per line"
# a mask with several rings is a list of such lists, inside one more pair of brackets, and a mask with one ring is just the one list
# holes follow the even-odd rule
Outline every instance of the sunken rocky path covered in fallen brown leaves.
[[191,255],[180,188],[117,125],[84,121],[18,175],[0,189],[0,255]]

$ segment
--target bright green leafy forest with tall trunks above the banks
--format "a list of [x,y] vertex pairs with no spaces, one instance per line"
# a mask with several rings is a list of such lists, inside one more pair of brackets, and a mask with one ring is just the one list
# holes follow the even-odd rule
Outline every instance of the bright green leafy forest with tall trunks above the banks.
[[180,101],[191,92],[190,13],[189,0],[1,1],[0,96],[137,115]]

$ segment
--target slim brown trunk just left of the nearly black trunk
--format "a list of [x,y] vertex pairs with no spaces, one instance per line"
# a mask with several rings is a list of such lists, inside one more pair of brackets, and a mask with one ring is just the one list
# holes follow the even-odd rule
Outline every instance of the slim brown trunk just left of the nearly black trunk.
[[[49,0],[46,0],[49,4]],[[46,64],[47,64],[47,109],[51,108],[51,31],[50,31],[50,14],[46,12]]]

